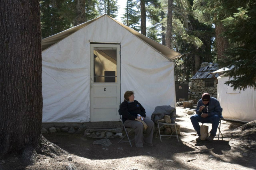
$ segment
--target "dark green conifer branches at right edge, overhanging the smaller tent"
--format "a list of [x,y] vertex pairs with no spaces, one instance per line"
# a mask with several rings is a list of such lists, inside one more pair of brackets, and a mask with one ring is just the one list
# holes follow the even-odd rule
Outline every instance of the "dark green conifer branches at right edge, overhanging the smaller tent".
[[[227,72],[232,79],[225,84],[239,90],[248,87],[256,89],[256,2],[248,0],[239,6],[234,9],[233,15],[222,21],[226,30],[224,37],[229,39],[231,45],[224,53],[226,59],[221,66],[234,66]],[[223,7],[230,6],[223,2]]]

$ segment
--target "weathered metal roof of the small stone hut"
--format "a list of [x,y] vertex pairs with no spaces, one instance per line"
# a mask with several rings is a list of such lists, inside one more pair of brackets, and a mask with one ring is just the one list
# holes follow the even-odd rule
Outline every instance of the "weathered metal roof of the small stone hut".
[[214,78],[218,77],[219,74],[215,73],[214,76],[212,74],[209,73],[213,73],[214,71],[218,70],[218,64],[213,64],[212,67],[210,66],[205,66],[205,67],[201,67],[197,73],[194,74],[193,77],[191,77],[191,79],[206,79],[206,78]]

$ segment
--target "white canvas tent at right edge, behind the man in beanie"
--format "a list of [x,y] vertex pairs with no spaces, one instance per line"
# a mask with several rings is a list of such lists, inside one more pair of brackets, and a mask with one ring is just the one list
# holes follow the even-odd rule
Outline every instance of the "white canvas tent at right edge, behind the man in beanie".
[[[213,73],[221,73],[232,68],[222,68]],[[226,84],[229,76],[218,76],[217,99],[223,108],[222,116],[227,120],[250,122],[256,120],[256,91],[253,88],[233,90]]]

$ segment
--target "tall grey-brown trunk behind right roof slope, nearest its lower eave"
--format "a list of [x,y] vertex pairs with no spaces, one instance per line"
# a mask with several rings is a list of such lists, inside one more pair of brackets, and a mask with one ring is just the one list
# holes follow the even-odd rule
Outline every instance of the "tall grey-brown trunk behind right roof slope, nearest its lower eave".
[[170,49],[172,47],[172,23],[173,23],[173,0],[168,0],[167,10],[167,26],[166,26],[166,46]]

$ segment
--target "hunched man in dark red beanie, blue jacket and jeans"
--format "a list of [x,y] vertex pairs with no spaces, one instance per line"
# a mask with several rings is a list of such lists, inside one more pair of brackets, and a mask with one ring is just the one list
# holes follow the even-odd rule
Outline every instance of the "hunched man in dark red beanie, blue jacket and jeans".
[[219,104],[219,101],[214,97],[211,97],[209,93],[203,93],[202,99],[200,99],[197,103],[197,110],[195,112],[197,114],[190,117],[192,125],[199,136],[195,140],[201,141],[199,122],[211,122],[212,127],[210,135],[206,138],[206,140],[210,142],[213,141],[213,138],[216,136],[219,119],[221,118],[221,105]]

